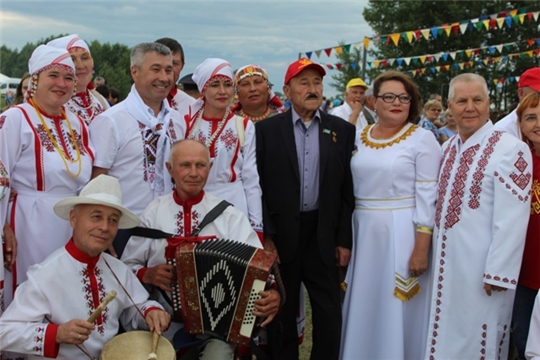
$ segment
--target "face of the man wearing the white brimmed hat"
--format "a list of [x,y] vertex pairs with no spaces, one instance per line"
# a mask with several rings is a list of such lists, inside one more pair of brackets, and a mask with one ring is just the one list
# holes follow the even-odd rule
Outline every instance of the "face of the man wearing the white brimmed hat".
[[121,216],[110,206],[77,205],[69,214],[75,246],[86,255],[98,256],[112,245]]

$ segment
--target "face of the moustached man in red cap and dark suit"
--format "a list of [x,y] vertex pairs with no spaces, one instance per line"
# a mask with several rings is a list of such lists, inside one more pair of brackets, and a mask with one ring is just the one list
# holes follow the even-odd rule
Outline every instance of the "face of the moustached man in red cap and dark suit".
[[305,69],[283,86],[297,113],[317,110],[322,103],[322,76],[317,70]]

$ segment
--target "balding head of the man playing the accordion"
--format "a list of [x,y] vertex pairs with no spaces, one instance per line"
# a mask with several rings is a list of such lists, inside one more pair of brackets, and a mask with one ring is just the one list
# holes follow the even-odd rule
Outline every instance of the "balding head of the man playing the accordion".
[[169,174],[176,184],[176,194],[183,201],[198,195],[208,179],[210,159],[206,147],[194,140],[184,140],[172,149]]

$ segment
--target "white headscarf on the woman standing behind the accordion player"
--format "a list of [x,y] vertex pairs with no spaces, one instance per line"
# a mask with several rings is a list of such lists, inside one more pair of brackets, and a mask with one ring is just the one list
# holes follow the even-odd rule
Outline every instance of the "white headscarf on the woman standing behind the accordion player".
[[197,84],[201,97],[190,106],[190,118],[193,118],[197,111],[204,106],[203,92],[210,80],[216,76],[225,76],[233,81],[234,73],[231,64],[223,59],[210,58],[199,64],[193,72],[191,78]]

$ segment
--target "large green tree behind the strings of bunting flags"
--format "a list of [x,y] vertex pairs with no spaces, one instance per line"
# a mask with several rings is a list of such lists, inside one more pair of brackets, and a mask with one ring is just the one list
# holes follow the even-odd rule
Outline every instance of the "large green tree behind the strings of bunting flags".
[[[403,33],[406,31],[430,29],[443,24],[459,23],[478,17],[487,17],[512,9],[530,7],[532,11],[538,10],[537,1],[375,1],[370,0],[364,8],[363,16],[373,31],[379,35]],[[408,43],[400,39],[395,46],[391,39],[388,42],[381,41],[375,48],[371,46],[368,53],[371,57],[384,59],[397,59],[405,57],[418,57],[428,54],[448,53],[458,50],[477,49],[480,47],[507,44],[517,42],[515,46],[505,46],[504,54],[514,54],[530,50],[526,40],[538,36],[538,24],[534,21],[524,21],[523,24],[512,24],[511,28],[506,25],[502,29],[486,31],[482,29],[470,29],[464,35],[441,34],[437,39],[426,40],[423,37],[417,41]],[[473,26],[473,25],[470,25]],[[415,76],[421,94],[425,99],[431,93],[442,93],[446,98],[448,83],[450,79],[462,72],[476,72],[488,80],[492,103],[496,107],[506,107],[510,102],[517,99],[515,83],[506,81],[504,84],[494,84],[493,79],[508,79],[512,76],[519,76],[527,68],[538,66],[536,58],[520,56],[517,59],[510,59],[508,62],[500,61],[483,64],[482,60],[492,55],[480,51],[473,55],[472,59],[461,57],[452,60],[450,57],[444,61],[442,58],[438,62],[422,64],[421,62],[411,63],[406,66],[398,66],[397,62],[393,66],[389,64],[385,68],[368,69],[369,78],[374,79],[379,73],[387,69],[397,69],[401,71],[416,71],[425,67],[450,65],[449,71],[432,73],[426,71],[424,75]],[[500,56],[500,55],[494,55]],[[459,62],[474,61],[474,65],[469,68],[456,69],[453,65]]]

